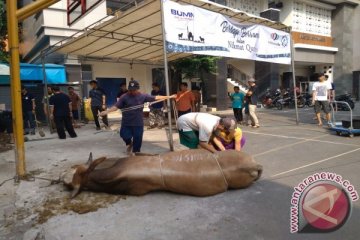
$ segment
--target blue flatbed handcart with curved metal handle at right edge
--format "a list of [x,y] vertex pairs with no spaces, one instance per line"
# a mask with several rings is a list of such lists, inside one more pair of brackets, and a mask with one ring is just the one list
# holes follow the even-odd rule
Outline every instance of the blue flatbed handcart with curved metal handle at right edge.
[[[338,103],[344,104],[349,108],[349,120],[336,121],[333,105],[335,104],[336,106]],[[331,131],[335,131],[338,136],[347,135],[349,137],[354,137],[354,135],[360,134],[360,118],[354,119],[352,109],[347,102],[331,101],[330,107],[332,124],[329,129]]]

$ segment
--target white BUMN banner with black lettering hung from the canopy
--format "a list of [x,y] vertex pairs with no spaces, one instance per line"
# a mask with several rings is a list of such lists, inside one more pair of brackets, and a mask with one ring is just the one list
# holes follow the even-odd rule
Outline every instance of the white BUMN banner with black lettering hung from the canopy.
[[163,1],[168,53],[291,64],[289,33],[258,24],[240,24],[219,13]]

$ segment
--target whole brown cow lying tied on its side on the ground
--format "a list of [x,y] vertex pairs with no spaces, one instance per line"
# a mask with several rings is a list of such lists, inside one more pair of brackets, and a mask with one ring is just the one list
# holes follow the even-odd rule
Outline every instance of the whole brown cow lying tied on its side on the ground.
[[185,150],[160,155],[127,158],[98,158],[74,166],[62,175],[72,189],[144,195],[170,191],[193,196],[210,196],[227,189],[246,188],[260,178],[262,166],[243,152],[229,150],[212,154],[206,150]]

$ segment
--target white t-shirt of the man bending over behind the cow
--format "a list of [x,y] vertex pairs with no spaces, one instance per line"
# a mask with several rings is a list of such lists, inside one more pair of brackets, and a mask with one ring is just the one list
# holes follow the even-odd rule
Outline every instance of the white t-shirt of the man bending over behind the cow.
[[208,113],[187,113],[178,118],[177,126],[184,132],[198,131],[199,140],[208,142],[219,121],[220,117]]

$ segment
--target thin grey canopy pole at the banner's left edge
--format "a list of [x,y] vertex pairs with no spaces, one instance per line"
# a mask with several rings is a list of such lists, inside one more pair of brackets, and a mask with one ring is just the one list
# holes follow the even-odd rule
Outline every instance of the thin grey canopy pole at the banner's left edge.
[[[163,35],[163,52],[164,52],[164,69],[165,69],[165,86],[166,86],[166,95],[170,96],[170,84],[169,84],[169,69],[168,69],[168,60],[166,52],[166,33],[165,33],[165,16],[164,16],[164,3],[163,0],[160,0],[161,5],[161,28]],[[168,122],[169,122],[169,146],[170,151],[174,151],[174,139],[172,131],[172,118],[171,118],[171,102],[170,99],[167,100],[167,109],[168,109]]]

